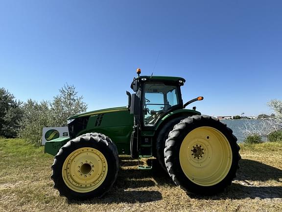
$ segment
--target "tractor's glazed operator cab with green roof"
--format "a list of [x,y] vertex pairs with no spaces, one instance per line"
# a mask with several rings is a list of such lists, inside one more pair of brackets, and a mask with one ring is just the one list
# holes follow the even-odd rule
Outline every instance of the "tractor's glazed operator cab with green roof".
[[[178,77],[139,76],[133,79],[131,111],[143,127],[154,127],[166,113],[183,108],[180,86],[185,79]],[[137,102],[137,103],[136,103]]]

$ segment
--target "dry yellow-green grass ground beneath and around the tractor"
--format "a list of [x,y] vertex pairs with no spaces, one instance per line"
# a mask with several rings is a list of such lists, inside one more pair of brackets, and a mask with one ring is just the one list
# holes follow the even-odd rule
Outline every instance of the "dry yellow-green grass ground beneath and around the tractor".
[[0,139],[0,212],[282,211],[282,144],[242,146],[233,185],[211,197],[187,195],[160,169],[121,157],[118,180],[101,199],[69,202],[52,188],[53,158],[21,139]]

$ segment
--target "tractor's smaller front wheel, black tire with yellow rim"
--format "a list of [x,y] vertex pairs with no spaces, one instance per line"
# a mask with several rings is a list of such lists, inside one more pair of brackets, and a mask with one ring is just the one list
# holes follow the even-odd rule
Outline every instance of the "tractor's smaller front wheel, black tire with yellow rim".
[[101,133],[87,133],[66,143],[55,156],[51,179],[68,199],[101,197],[118,175],[118,150]]

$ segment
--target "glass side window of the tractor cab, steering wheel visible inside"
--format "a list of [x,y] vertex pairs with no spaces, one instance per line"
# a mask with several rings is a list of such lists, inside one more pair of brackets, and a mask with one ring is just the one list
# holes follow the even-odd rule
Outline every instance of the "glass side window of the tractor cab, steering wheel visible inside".
[[144,125],[155,125],[161,115],[178,105],[177,87],[163,83],[146,83],[143,95]]

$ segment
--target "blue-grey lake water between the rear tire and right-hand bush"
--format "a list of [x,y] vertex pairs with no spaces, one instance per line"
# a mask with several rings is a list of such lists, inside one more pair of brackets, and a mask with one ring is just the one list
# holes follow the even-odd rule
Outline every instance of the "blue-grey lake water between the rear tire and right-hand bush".
[[231,130],[233,130],[233,134],[237,137],[238,143],[243,142],[245,139],[245,135],[242,132],[242,129],[244,128],[244,124],[258,124],[260,120],[255,119],[248,119],[248,120],[220,120],[221,122],[227,124],[227,127],[229,127]]

